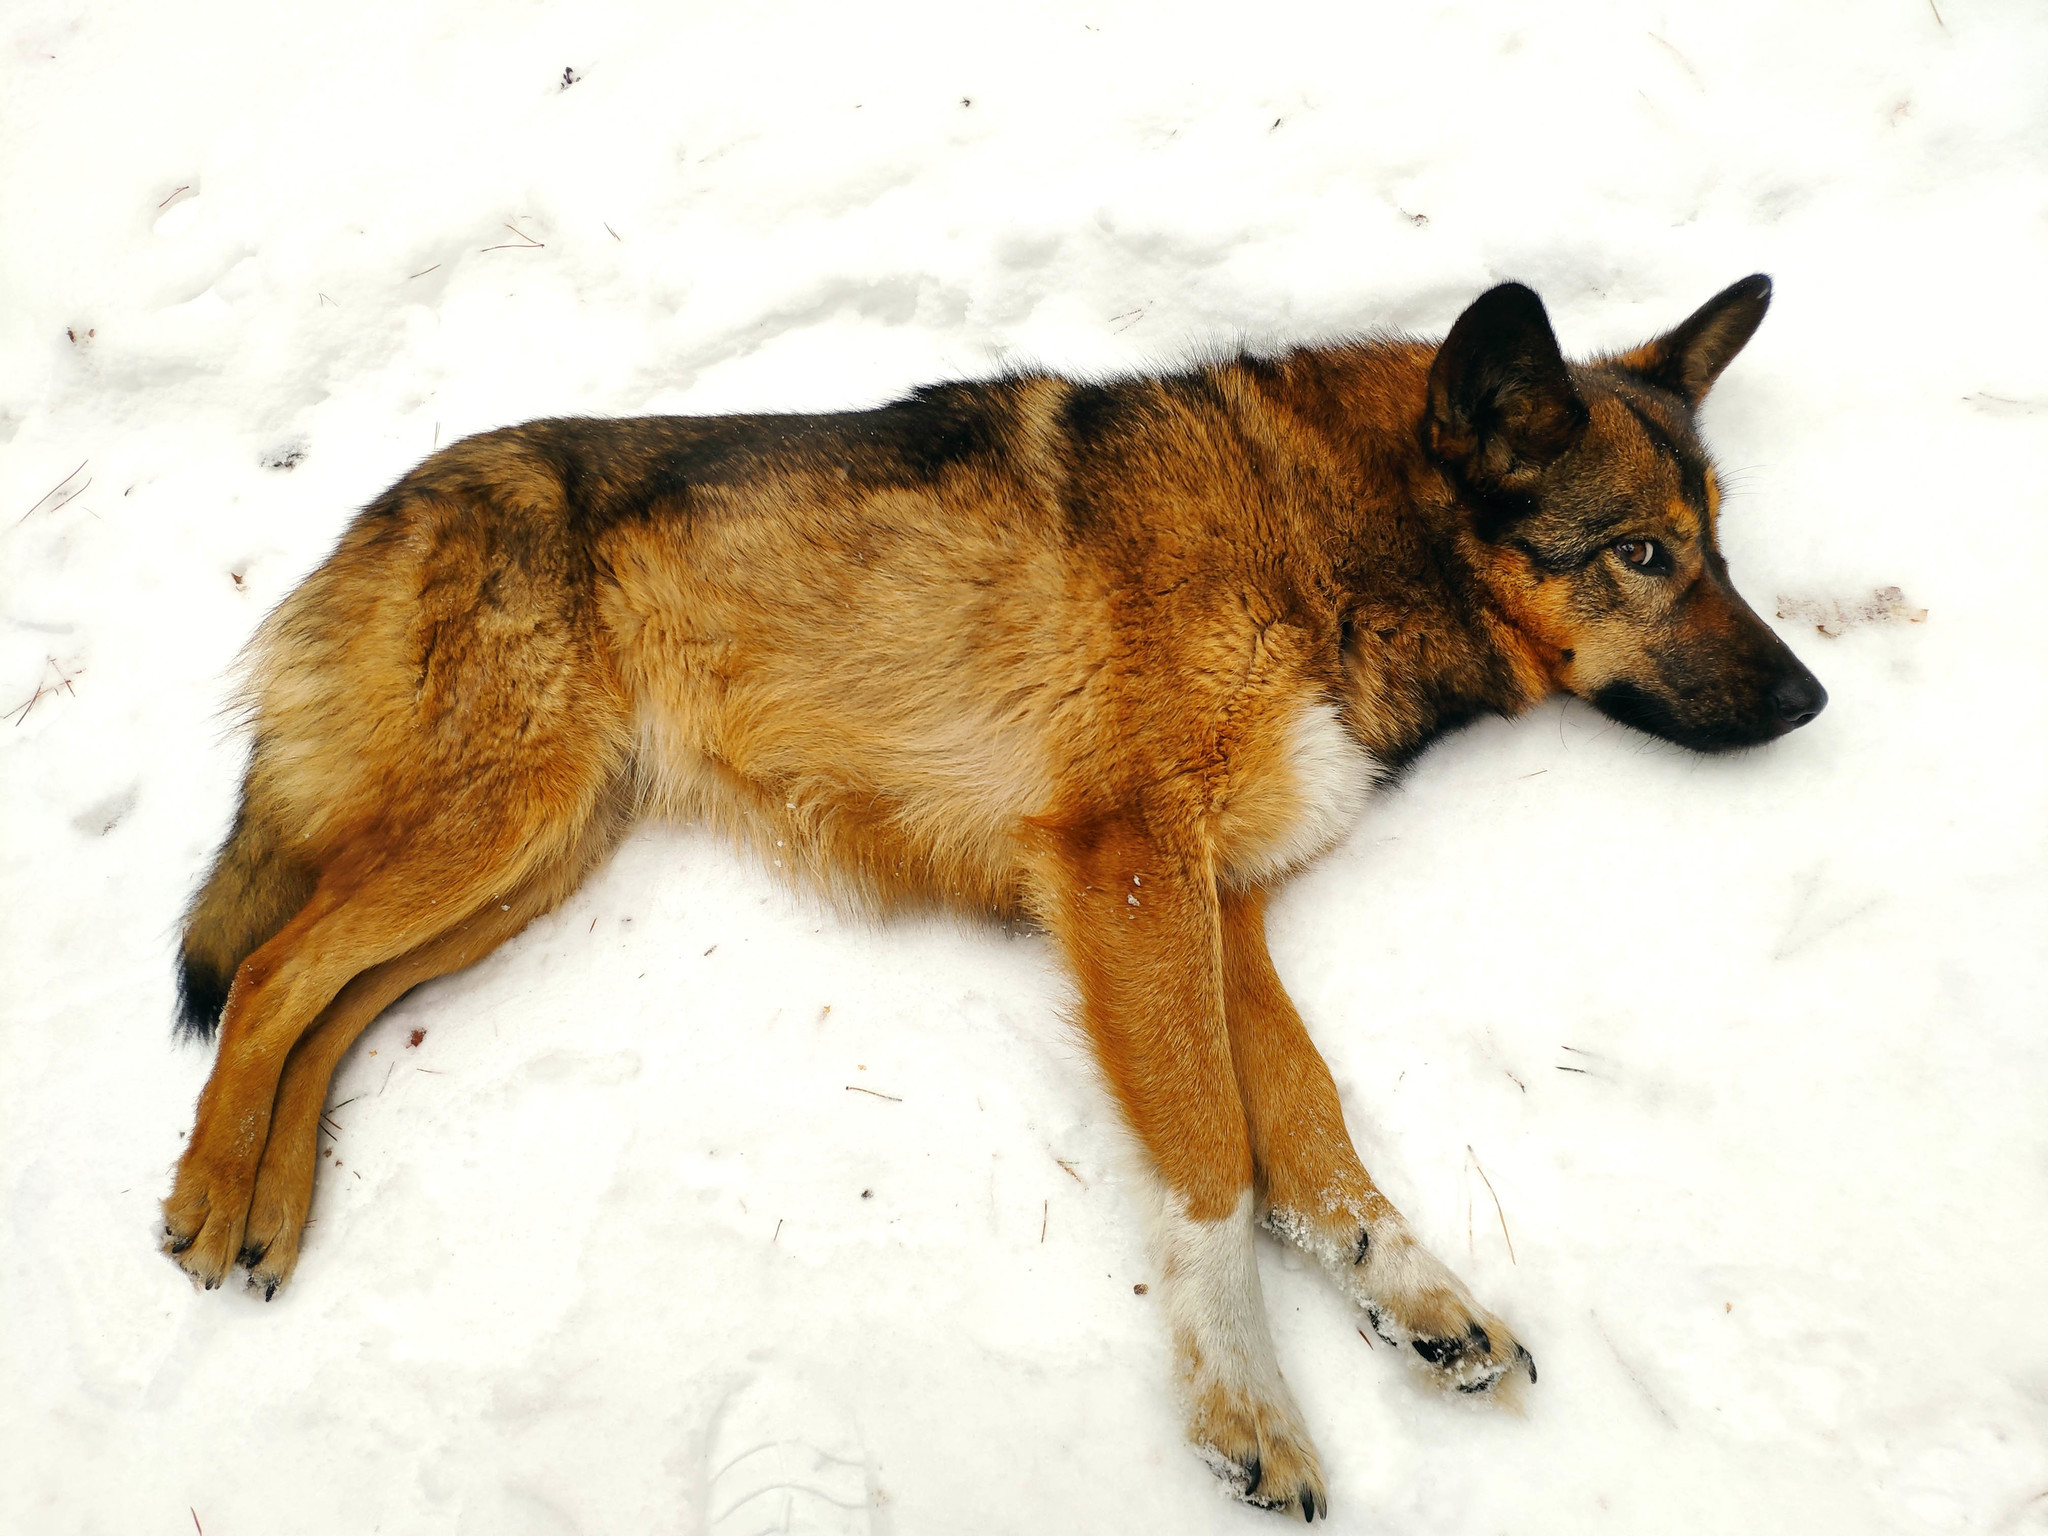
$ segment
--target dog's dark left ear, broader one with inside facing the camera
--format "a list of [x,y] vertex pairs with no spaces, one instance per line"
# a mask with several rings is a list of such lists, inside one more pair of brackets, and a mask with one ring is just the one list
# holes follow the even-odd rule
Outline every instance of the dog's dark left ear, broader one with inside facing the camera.
[[1430,365],[1430,453],[1481,492],[1528,492],[1583,430],[1542,299],[1520,283],[1481,293]]

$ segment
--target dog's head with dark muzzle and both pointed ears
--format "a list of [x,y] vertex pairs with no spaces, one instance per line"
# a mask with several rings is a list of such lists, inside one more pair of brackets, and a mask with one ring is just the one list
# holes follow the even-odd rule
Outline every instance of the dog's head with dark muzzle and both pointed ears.
[[1532,666],[1651,735],[1726,752],[1827,690],[1757,618],[1716,545],[1694,412],[1772,301],[1747,276],[1632,352],[1569,365],[1542,301],[1503,283],[1430,369],[1423,440],[1470,510],[1473,565]]

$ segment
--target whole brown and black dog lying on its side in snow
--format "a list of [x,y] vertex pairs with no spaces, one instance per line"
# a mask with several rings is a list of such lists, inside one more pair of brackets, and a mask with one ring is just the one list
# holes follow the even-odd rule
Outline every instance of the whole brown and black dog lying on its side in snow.
[[1352,1149],[1268,893],[1475,715],[1565,690],[1726,752],[1821,711],[1729,584],[1694,426],[1767,303],[1749,276],[1567,362],[1505,283],[1442,344],[442,449],[252,643],[242,807],[184,920],[219,1057],[166,1251],[274,1294],[350,1040],[637,817],[709,821],[868,909],[1053,936],[1157,1176],[1188,1438],[1313,1520],[1257,1227],[1444,1386],[1536,1366]]

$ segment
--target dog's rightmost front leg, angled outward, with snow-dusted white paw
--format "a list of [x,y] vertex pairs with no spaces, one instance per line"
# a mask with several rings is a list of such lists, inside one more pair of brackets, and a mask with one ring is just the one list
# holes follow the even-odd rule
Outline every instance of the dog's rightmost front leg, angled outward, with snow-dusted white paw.
[[1329,1067],[1266,952],[1266,895],[1223,897],[1223,991],[1266,1225],[1329,1270],[1382,1339],[1460,1393],[1536,1362],[1380,1194],[1343,1128]]

